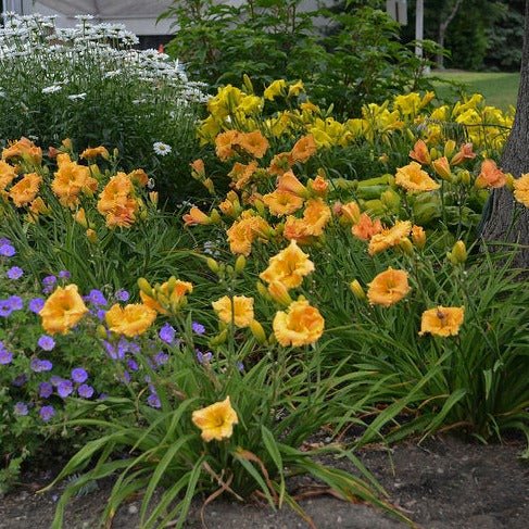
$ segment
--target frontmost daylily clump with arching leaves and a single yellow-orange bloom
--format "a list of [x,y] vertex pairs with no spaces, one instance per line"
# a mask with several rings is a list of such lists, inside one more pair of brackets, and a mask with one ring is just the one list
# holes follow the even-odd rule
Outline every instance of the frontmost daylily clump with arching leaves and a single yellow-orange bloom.
[[[288,477],[299,474],[324,481],[344,500],[360,497],[410,521],[387,502],[383,490],[354,454],[332,444],[299,448],[335,420],[333,399],[343,398],[348,387],[358,383],[357,377],[323,378],[317,348],[303,354],[270,347],[259,351],[256,341],[235,332],[234,325],[210,339],[213,354],[197,356],[191,316],[172,318],[180,340],[161,369],[152,369],[144,356],[136,356],[149,377],[150,405],[144,403],[144,382],[129,385],[128,398],[85,403],[66,423],[97,428],[100,433],[49,486],[84,471],[67,484],[53,528],[62,527],[73,494],[110,476],[116,481],[102,524],[109,524],[126,497],[140,490],[144,491],[140,516],[146,529],[168,522],[182,527],[198,494],[207,494],[203,508],[223,493],[238,501],[256,494],[272,507],[288,505],[310,521],[287,488]],[[276,355],[277,361],[272,361]],[[222,406],[224,415],[200,427],[201,436],[196,414],[207,413],[212,404]],[[207,437],[213,430],[214,437]],[[362,477],[322,465],[315,457],[324,454],[348,457]]]

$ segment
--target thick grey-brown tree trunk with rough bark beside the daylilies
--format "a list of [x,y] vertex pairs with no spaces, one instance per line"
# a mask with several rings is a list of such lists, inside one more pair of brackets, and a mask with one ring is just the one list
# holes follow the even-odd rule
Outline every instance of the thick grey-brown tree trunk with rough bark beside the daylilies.
[[[501,168],[515,178],[529,173],[529,1],[526,2],[520,87],[513,129],[501,159]],[[482,218],[481,237],[489,248],[492,242],[520,244],[514,265],[529,268],[529,207],[514,200],[512,191],[494,189]]]

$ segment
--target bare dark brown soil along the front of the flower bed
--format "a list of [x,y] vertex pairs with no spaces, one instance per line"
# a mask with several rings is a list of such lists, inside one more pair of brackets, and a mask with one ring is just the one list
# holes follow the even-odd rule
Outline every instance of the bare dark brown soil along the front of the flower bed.
[[[360,454],[399,506],[424,529],[527,529],[529,527],[529,462],[519,456],[520,440],[502,445],[465,443],[452,437],[434,438],[420,446],[405,442],[390,451],[370,448]],[[333,465],[348,468],[342,459]],[[35,491],[56,471],[27,474],[25,483],[0,499],[0,529],[48,529],[60,489]],[[294,492],[311,487],[310,480],[292,483]],[[64,529],[97,529],[111,483],[76,497],[67,511]],[[323,529],[396,529],[407,525],[370,506],[317,496],[300,502],[314,526]],[[113,529],[136,529],[140,500],[124,505]],[[201,502],[197,501],[186,528],[199,529]],[[210,529],[291,529],[307,524],[288,508],[238,504],[221,499],[205,509]]]

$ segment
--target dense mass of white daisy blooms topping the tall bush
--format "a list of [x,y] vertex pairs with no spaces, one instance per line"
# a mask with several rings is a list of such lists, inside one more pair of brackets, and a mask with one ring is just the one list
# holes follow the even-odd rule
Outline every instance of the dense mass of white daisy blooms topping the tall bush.
[[10,87],[2,85],[16,77],[17,83],[27,80],[26,90],[32,86],[42,95],[79,101],[100,79],[123,79],[143,86],[146,99],[154,93],[169,98],[176,106],[206,99],[204,85],[190,81],[178,61],[156,50],[136,50],[138,37],[123,24],[92,24],[90,15],[79,15],[74,28],[59,28],[53,16],[4,13],[3,18],[2,91],[9,92]]

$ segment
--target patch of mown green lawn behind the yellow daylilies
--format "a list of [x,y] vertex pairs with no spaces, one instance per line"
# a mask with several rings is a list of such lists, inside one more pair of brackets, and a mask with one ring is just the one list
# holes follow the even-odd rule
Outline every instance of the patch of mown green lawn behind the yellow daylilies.
[[[462,72],[445,71],[431,73],[432,76],[446,80],[454,80],[465,85],[467,93],[479,92],[486,97],[487,103],[507,110],[508,105],[516,106],[520,75],[518,73],[484,73],[484,72]],[[448,97],[450,88],[439,83],[438,92]]]

